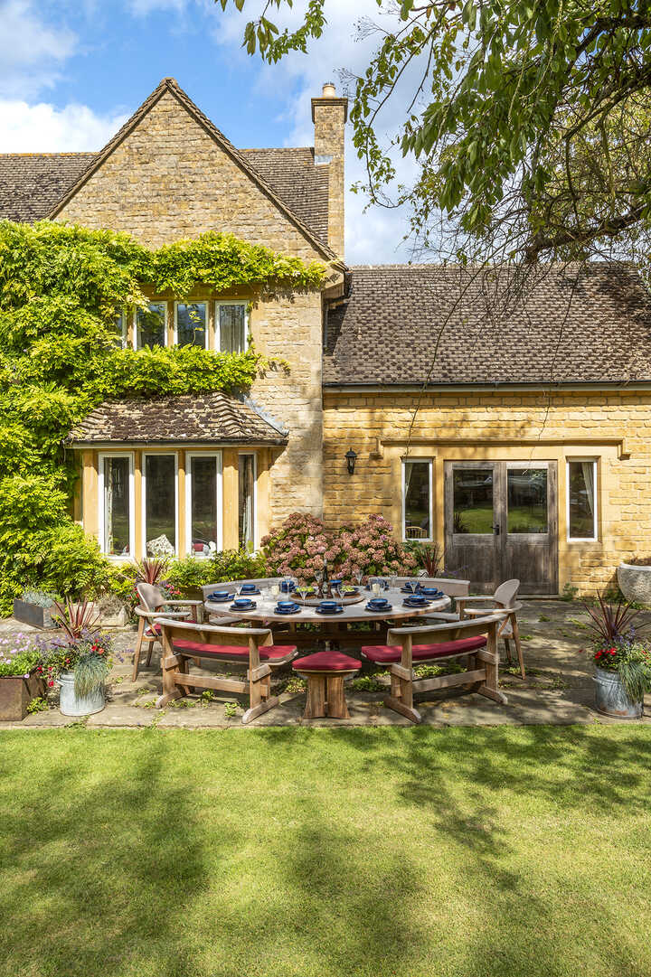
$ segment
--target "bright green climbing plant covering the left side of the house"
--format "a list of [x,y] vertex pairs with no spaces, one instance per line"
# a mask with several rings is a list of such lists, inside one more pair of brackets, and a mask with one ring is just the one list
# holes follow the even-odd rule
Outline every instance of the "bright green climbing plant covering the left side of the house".
[[317,262],[226,234],[151,251],[127,234],[0,222],[0,614],[25,584],[95,595],[118,581],[70,518],[78,473],[65,437],[108,398],[239,392],[267,361],[252,348],[122,349],[111,331],[146,308],[142,285],[187,299],[195,285],[256,295],[318,288]]

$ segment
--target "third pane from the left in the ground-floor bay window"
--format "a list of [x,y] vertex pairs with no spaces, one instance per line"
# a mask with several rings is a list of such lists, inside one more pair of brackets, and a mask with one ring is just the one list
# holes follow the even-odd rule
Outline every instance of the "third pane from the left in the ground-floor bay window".
[[209,556],[222,546],[222,456],[188,454],[186,521],[188,550]]

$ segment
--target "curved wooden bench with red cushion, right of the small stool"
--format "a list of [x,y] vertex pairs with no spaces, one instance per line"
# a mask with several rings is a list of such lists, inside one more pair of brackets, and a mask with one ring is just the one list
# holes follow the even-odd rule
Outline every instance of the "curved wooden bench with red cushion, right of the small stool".
[[[384,704],[414,723],[421,722],[422,718],[413,707],[414,693],[460,685],[500,705],[506,704],[506,697],[498,687],[498,627],[501,616],[495,614],[477,620],[450,620],[451,615],[445,617],[441,624],[391,628],[387,632],[386,645],[362,649],[363,658],[389,666],[391,695],[386,697]],[[460,657],[467,659],[465,672],[438,678],[413,677],[414,663],[439,663],[444,658]]]

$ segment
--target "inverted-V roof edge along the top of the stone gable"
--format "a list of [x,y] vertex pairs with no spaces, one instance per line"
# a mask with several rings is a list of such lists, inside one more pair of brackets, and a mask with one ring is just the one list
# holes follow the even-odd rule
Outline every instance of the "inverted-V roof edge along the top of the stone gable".
[[152,94],[148,99],[143,102],[142,106],[138,108],[130,119],[128,119],[121,129],[119,129],[113,138],[109,140],[109,143],[102,149],[93,162],[88,166],[84,172],[79,176],[75,183],[64,193],[64,196],[56,203],[56,205],[50,211],[48,216],[56,217],[65,207],[65,204],[70,200],[74,194],[84,186],[87,180],[89,180],[92,175],[102,166],[104,161],[108,159],[111,152],[116,149],[120,143],[122,143],[127,136],[136,128],[136,126],[141,122],[141,120],[147,115],[150,109],[155,106],[155,104],[165,95],[169,93],[176,98],[182,106],[184,106],[190,115],[195,119],[195,122],[200,125],[204,131],[215,141],[215,143],[223,149],[228,155],[241,167],[241,169],[246,173],[246,175],[251,179],[251,181],[258,187],[260,191],[265,193],[282,211],[284,216],[297,227],[302,234],[315,246],[317,251],[320,251],[325,258],[328,260],[334,260],[339,262],[339,259],[334,254],[334,252],[327,246],[327,244],[319,237],[318,234],[308,227],[304,220],[298,216],[286,202],[282,199],[279,193],[270,186],[268,181],[257,169],[251,165],[251,162],[246,158],[246,154],[236,149],[233,143],[226,138],[226,136],[220,132],[220,130],[215,126],[207,115],[195,106],[192,99],[183,91],[175,78],[163,78],[157,88],[154,89]]

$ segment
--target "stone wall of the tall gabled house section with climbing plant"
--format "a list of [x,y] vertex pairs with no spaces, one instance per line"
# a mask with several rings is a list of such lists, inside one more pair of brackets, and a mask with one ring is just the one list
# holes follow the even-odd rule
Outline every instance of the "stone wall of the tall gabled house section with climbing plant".
[[[170,93],[77,191],[58,220],[124,231],[150,247],[219,231],[304,260],[323,260]],[[194,297],[217,296],[204,292]],[[232,292],[219,297],[252,299]],[[170,336],[172,317],[170,301]],[[322,296],[254,301],[250,329],[256,349],[287,363],[251,391],[255,403],[289,430],[288,446],[270,471],[271,509],[264,517],[278,523],[295,509],[320,514]]]

